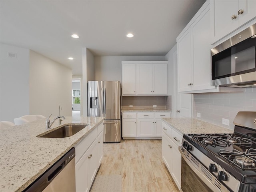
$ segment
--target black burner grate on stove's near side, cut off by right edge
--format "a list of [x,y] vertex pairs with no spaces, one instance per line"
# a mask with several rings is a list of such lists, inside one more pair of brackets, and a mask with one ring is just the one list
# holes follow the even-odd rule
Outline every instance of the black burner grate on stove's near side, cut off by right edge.
[[256,150],[253,148],[246,149],[245,152],[220,149],[218,154],[243,170],[256,170]]

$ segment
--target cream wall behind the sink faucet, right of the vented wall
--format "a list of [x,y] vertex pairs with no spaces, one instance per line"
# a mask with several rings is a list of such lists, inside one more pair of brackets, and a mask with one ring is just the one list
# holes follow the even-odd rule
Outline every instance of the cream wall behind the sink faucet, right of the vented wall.
[[72,70],[30,50],[30,114],[72,116]]

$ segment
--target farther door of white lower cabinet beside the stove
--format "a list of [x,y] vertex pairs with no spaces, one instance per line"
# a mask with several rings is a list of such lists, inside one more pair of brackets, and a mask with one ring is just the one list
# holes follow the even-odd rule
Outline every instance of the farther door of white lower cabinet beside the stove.
[[163,132],[162,136],[162,159],[169,172],[172,172],[172,150],[171,150],[171,142],[172,140]]

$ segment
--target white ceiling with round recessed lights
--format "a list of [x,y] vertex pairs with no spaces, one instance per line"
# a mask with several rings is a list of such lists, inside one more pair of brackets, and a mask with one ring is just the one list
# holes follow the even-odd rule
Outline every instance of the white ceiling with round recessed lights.
[[81,75],[84,47],[94,56],[166,55],[204,2],[0,0],[0,42],[31,49]]

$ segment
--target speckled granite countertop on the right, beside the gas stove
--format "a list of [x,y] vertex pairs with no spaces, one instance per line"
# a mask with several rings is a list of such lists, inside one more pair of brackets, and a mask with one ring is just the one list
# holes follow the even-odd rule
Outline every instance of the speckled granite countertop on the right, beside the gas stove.
[[214,125],[195,118],[162,118],[164,122],[172,126],[181,134],[190,133],[233,133],[234,130]]

